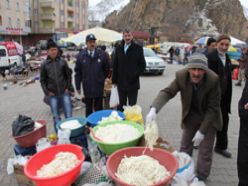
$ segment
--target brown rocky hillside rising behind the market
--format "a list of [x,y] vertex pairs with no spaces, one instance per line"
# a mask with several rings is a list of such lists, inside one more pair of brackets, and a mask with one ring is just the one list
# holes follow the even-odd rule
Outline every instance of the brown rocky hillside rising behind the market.
[[218,33],[248,38],[248,21],[238,0],[131,0],[118,14],[111,13],[104,26],[143,31],[157,27],[162,41],[191,41]]

